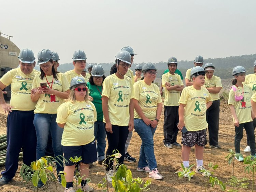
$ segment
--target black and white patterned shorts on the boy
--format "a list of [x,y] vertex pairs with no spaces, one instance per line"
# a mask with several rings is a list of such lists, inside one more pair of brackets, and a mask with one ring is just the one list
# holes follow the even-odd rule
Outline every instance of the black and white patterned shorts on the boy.
[[181,143],[187,147],[193,147],[195,144],[203,147],[206,140],[206,129],[200,131],[188,131],[182,133]]

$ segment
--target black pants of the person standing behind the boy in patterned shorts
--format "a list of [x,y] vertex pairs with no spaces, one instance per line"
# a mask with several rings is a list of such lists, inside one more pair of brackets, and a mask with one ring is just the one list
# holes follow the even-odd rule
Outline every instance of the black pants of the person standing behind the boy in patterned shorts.
[[[210,145],[218,145],[219,105],[220,105],[219,100],[213,101],[212,105],[206,111],[206,121],[208,123],[209,144]],[[205,140],[205,145],[206,144],[207,144],[207,140]]]

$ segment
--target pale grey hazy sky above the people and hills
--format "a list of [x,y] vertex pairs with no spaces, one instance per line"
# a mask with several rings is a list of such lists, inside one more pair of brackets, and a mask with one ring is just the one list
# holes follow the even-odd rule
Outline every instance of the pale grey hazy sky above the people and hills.
[[60,63],[82,49],[87,62],[113,62],[126,45],[134,62],[255,54],[255,0],[4,0],[0,31],[31,48],[56,51]]

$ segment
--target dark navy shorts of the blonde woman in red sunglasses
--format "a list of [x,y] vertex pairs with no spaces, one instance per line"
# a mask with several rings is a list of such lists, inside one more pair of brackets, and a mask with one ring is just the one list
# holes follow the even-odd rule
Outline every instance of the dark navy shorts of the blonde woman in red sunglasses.
[[70,157],[74,158],[75,156],[81,157],[82,160],[77,162],[79,163],[93,163],[97,161],[97,149],[96,149],[96,143],[95,140],[91,143],[88,143],[86,145],[80,145],[80,146],[63,146],[62,150],[64,153],[64,158],[68,161],[65,162],[67,166],[74,165],[72,161],[70,161]]

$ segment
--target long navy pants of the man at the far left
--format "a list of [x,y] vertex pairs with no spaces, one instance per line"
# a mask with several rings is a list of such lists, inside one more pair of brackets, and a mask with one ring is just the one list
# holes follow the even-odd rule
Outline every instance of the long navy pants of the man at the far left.
[[30,166],[37,160],[37,135],[33,124],[34,112],[13,110],[7,117],[7,153],[3,177],[12,179],[18,169],[20,149],[23,149],[23,162]]

